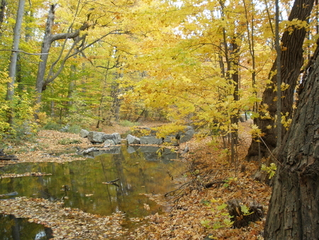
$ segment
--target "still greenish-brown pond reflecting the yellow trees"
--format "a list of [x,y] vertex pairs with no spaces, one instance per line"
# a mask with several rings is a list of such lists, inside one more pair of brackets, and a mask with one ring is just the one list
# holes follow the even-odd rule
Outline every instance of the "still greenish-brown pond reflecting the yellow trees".
[[[1,172],[52,175],[4,178],[0,182],[0,194],[16,192],[15,196],[7,198],[64,199],[65,207],[100,215],[118,211],[125,212],[128,217],[142,217],[150,212],[162,213],[163,207],[143,194],[164,194],[174,190],[177,184],[172,181],[172,176],[180,178],[185,163],[174,160],[178,158],[177,153],[169,149],[164,149],[160,155],[158,150],[150,146],[138,149],[121,146],[111,151],[92,152],[86,160],[7,165]],[[112,180],[116,182],[103,184]],[[150,206],[150,211],[145,210],[144,204]]]

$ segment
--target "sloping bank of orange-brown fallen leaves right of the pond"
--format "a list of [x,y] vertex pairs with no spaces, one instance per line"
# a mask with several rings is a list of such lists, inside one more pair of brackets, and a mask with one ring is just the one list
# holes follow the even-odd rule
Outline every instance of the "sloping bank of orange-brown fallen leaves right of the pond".
[[[169,213],[146,217],[147,224],[135,229],[130,239],[203,239],[208,234],[211,239],[263,239],[265,217],[234,229],[227,211],[228,201],[236,200],[244,212],[252,203],[267,212],[270,187],[250,177],[258,165],[244,160],[250,144],[247,124],[244,127],[237,164],[230,164],[221,145],[212,145],[209,138],[187,143],[191,149],[186,156],[191,164],[189,186],[174,197]],[[245,215],[249,214],[253,213]]]

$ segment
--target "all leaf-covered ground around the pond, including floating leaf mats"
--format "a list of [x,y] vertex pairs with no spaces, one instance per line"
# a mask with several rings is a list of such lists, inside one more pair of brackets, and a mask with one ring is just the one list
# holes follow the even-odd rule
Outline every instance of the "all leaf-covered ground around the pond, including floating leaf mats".
[[[150,127],[158,124],[144,125]],[[123,227],[125,214],[115,213],[106,217],[89,214],[79,209],[63,207],[62,201],[16,197],[0,201],[0,213],[27,217],[29,222],[44,224],[52,229],[54,239],[204,239],[208,234],[210,238],[207,239],[263,239],[271,188],[251,177],[259,168],[258,163],[245,161],[251,141],[250,124],[249,121],[240,124],[236,163],[230,163],[229,154],[223,149],[219,137],[214,141],[207,137],[181,144],[180,149],[184,149],[186,145],[189,148],[189,152],[184,154],[185,164],[189,165],[186,183],[181,185],[181,190],[167,197],[150,195],[151,200],[158,204],[170,204],[171,208],[167,214],[130,219],[137,223],[133,229]],[[116,125],[102,130],[106,133],[125,133],[130,128]],[[67,141],[70,144],[65,145]],[[56,158],[48,154],[52,150],[74,146],[86,148],[91,143],[79,134],[39,131],[34,141],[12,146],[10,154],[15,154],[19,160],[0,161],[0,167],[26,162],[63,163],[85,160],[68,155]],[[27,176],[40,174],[26,173]],[[21,176],[13,173],[1,177]],[[229,201],[237,203],[235,219],[230,218]],[[255,222],[246,221],[245,227],[233,228],[234,220],[235,224],[240,220],[245,222],[246,218],[249,219],[256,213],[250,210],[254,206],[263,209],[264,214],[259,213],[261,218]]]

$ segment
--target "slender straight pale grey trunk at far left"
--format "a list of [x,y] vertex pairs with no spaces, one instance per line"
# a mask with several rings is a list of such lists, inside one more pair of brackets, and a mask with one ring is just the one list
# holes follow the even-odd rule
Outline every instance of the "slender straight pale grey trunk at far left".
[[[13,29],[13,47],[9,65],[9,78],[10,82],[7,84],[6,100],[12,104],[14,95],[14,82],[16,80],[16,63],[18,60],[18,47],[20,42],[21,25],[23,19],[25,0],[20,0],[18,5],[18,13],[16,15],[16,25]],[[13,126],[13,106],[9,107],[8,111],[8,123]]]

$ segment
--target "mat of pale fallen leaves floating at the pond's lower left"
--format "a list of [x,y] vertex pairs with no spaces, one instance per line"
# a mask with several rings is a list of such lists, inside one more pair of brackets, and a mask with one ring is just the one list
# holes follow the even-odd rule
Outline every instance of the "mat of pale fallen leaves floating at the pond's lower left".
[[121,239],[126,231],[121,227],[121,213],[101,217],[44,199],[17,197],[0,201],[0,212],[50,227],[54,239]]

